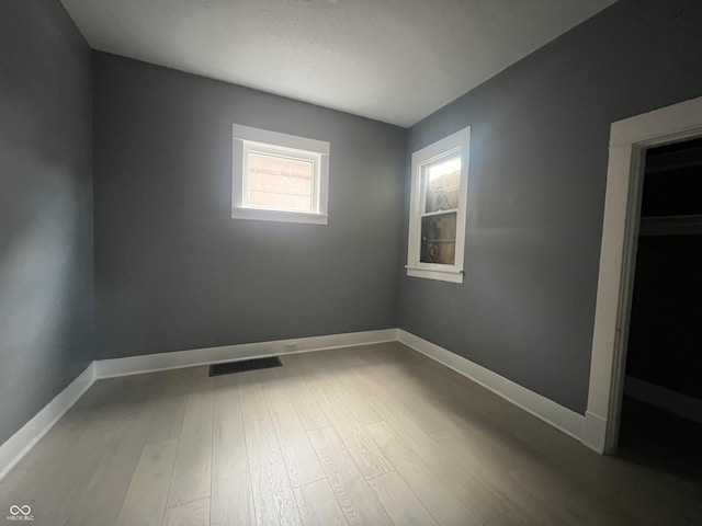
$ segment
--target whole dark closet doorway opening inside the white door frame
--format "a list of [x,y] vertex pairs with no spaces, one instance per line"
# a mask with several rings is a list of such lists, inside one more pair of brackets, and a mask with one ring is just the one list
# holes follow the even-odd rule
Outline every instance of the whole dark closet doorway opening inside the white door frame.
[[702,138],[649,148],[618,454],[702,480]]

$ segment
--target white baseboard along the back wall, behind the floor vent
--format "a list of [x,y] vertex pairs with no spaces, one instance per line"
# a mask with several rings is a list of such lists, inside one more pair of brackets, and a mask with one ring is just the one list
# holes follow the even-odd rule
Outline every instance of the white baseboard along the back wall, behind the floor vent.
[[181,367],[216,364],[219,362],[235,362],[238,359],[264,356],[280,356],[282,354],[370,345],[373,343],[394,342],[396,340],[397,329],[383,329],[380,331],[348,332],[324,336],[242,343],[192,351],[177,351],[173,353],[144,354],[140,356],[127,356],[125,358],[100,359],[95,362],[97,378],[112,378],[115,376],[138,375],[141,373],[178,369]]

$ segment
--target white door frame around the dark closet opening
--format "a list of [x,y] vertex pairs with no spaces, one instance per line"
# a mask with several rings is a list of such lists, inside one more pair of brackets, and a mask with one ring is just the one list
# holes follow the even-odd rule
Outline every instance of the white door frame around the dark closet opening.
[[581,438],[599,453],[615,453],[619,442],[646,150],[700,136],[702,96],[611,126],[588,407]]

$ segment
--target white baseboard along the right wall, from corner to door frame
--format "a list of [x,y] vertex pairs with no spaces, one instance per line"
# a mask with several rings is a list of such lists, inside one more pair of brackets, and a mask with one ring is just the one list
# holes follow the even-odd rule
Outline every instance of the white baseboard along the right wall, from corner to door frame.
[[408,347],[469,378],[528,413],[580,441],[585,421],[581,414],[401,329],[398,330],[398,340]]

